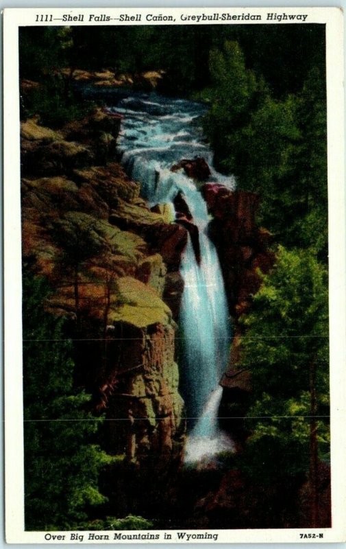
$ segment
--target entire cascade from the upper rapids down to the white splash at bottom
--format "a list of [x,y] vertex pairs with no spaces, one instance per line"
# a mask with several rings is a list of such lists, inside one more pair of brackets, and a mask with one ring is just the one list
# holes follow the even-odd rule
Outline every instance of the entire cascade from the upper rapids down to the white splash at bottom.
[[199,229],[200,264],[188,237],[180,268],[185,284],[180,314],[184,348],[180,366],[190,426],[186,461],[195,461],[232,449],[232,441],[219,430],[217,421],[222,396],[219,379],[227,364],[230,325],[217,250],[207,234],[206,202],[193,180],[182,171],[171,172],[170,168],[183,158],[203,156],[211,168],[209,180],[229,187],[234,186],[234,181],[212,168],[212,151],[202,142],[198,124],[205,111],[200,104],[136,95],[122,100],[115,110],[124,114],[119,142],[122,162],[127,173],[141,183],[143,196],[154,205],[173,202],[182,191]]

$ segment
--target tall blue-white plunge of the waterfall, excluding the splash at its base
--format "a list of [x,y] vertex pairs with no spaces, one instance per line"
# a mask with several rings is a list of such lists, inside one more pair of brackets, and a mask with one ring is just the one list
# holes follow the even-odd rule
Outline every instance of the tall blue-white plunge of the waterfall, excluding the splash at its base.
[[189,238],[180,267],[184,279],[180,313],[184,340],[182,371],[189,390],[188,417],[198,418],[227,364],[230,330],[217,250],[206,234],[206,202],[196,189],[186,194],[186,201],[199,229],[201,264],[195,260]]

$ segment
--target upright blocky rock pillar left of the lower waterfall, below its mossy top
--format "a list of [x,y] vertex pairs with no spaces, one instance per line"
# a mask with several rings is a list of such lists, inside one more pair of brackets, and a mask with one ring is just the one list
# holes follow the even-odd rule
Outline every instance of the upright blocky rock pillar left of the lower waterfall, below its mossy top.
[[[100,405],[104,403],[109,418],[126,420],[108,422],[108,444],[119,454],[125,449],[129,461],[180,459],[184,402],[177,392],[174,342],[175,327],[169,323],[119,325],[108,340],[109,352],[118,360],[108,365]],[[119,362],[126,366],[119,369]]]

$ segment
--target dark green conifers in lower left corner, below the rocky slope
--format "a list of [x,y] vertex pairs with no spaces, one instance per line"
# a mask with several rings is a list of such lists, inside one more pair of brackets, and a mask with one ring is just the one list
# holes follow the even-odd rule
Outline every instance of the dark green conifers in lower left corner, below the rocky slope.
[[64,321],[45,313],[47,283],[23,272],[25,528],[77,528],[106,498],[100,469],[112,458],[93,443],[100,422],[73,389]]

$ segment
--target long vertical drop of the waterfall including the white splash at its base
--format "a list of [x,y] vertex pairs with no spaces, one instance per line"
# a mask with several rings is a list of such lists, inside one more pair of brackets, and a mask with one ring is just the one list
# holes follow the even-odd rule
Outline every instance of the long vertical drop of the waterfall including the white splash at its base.
[[227,366],[230,347],[227,299],[217,250],[207,235],[206,202],[201,194],[195,195],[188,194],[187,202],[199,228],[201,264],[195,260],[189,239],[180,268],[185,283],[180,313],[184,341],[182,374],[188,387],[188,425],[192,426],[186,444],[186,462],[233,449],[217,419],[222,397],[219,379]]

